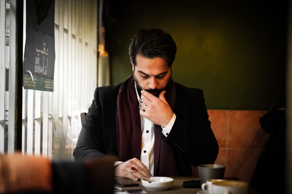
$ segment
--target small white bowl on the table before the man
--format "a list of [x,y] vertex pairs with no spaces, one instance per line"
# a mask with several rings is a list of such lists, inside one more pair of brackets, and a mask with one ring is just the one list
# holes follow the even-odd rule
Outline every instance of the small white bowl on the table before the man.
[[142,185],[149,191],[164,191],[169,189],[173,184],[170,177],[151,177],[141,179]]

